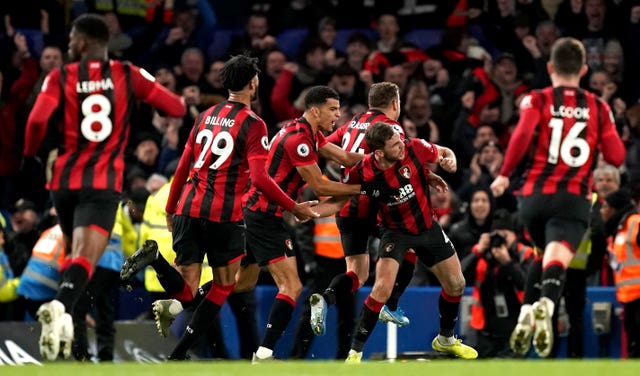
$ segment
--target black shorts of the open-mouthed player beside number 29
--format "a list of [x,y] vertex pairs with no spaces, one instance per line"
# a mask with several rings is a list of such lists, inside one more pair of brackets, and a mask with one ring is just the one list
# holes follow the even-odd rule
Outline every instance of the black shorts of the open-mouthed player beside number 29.
[[281,217],[244,209],[247,225],[247,254],[260,266],[295,256],[291,235]]

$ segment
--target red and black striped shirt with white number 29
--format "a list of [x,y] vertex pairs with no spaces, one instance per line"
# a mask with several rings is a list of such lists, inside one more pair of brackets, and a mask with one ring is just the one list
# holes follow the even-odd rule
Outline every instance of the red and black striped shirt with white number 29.
[[226,101],[200,113],[180,158],[167,212],[175,208],[178,215],[212,222],[241,221],[249,161],[266,159],[268,144],[264,121],[242,103]]

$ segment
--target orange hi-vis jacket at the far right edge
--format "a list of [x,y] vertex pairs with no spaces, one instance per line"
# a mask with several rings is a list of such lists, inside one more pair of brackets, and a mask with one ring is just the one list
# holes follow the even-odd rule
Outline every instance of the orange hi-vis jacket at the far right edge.
[[621,221],[613,241],[611,266],[616,283],[616,297],[621,303],[640,299],[640,244],[638,235],[640,214],[631,214]]

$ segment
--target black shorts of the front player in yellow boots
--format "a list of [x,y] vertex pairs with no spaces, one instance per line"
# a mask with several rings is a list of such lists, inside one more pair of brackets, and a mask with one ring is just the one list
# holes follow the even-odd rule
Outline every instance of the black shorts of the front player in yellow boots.
[[416,252],[418,259],[429,268],[456,254],[453,243],[442,231],[436,221],[431,228],[418,235],[411,235],[397,230],[382,228],[378,257],[391,257],[402,264],[405,253],[410,248]]

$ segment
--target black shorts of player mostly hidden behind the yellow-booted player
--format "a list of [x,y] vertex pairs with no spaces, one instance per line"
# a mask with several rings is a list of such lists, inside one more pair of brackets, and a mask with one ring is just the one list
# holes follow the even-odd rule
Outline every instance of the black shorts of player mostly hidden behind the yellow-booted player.
[[376,219],[336,217],[340,230],[340,240],[345,256],[364,255],[369,253],[369,241],[380,237]]

